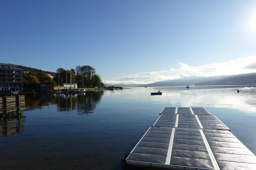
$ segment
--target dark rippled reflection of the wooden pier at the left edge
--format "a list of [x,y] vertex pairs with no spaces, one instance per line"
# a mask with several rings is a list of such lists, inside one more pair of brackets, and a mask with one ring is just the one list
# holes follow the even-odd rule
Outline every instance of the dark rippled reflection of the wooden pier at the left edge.
[[20,112],[0,114],[0,136],[11,136],[25,131],[26,117]]

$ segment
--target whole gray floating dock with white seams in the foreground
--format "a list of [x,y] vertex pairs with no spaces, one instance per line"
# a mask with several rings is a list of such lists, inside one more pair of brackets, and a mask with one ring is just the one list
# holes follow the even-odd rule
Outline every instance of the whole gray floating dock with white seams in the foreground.
[[255,170],[256,156],[201,107],[165,107],[123,158],[127,168]]

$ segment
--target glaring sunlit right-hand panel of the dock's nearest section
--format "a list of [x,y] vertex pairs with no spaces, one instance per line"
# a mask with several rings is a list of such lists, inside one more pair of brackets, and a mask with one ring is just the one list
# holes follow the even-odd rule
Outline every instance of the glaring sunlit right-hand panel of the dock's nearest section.
[[256,169],[254,154],[230,131],[203,131],[220,169]]

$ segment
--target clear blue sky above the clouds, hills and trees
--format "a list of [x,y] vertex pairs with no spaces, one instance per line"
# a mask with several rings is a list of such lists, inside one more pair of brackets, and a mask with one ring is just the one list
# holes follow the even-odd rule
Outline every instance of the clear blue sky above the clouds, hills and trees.
[[0,62],[47,71],[91,65],[110,83],[182,64],[256,62],[254,0],[2,0],[0,21]]

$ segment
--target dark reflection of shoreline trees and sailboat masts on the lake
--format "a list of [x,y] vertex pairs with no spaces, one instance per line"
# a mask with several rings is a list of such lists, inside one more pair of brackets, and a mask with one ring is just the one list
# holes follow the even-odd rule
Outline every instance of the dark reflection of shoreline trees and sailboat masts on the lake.
[[26,109],[40,109],[44,106],[56,105],[57,111],[73,112],[79,115],[93,113],[97,103],[102,98],[104,91],[75,95],[26,95]]

